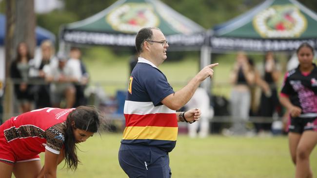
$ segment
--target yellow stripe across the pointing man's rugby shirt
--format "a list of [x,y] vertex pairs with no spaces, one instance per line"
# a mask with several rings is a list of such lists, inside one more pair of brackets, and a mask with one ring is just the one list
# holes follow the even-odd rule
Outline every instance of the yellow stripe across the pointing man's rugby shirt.
[[178,127],[159,126],[129,126],[125,127],[123,140],[152,139],[152,140],[177,140]]

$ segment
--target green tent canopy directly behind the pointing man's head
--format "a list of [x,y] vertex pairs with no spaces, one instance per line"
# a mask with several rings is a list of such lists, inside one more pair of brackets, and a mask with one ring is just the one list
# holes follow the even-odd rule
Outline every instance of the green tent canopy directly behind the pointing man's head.
[[61,28],[66,43],[134,46],[143,27],[158,27],[171,46],[204,43],[205,30],[159,0],[118,0],[105,10]]

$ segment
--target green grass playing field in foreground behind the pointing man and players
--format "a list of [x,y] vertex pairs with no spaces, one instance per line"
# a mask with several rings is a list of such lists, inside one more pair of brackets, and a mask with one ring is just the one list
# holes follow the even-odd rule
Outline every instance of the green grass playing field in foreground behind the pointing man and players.
[[[75,172],[59,165],[59,178],[127,178],[118,162],[122,134],[95,135],[79,148],[82,164]],[[43,160],[43,159],[42,159]],[[190,139],[179,135],[170,153],[173,178],[292,178],[294,165],[287,137],[224,137]],[[317,149],[311,155],[317,176]]]

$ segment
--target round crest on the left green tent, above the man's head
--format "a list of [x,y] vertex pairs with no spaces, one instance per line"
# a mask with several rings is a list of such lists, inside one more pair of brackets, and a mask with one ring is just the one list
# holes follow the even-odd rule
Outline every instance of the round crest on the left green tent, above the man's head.
[[153,7],[146,3],[125,3],[111,11],[106,21],[114,30],[132,34],[143,27],[157,27],[159,24]]

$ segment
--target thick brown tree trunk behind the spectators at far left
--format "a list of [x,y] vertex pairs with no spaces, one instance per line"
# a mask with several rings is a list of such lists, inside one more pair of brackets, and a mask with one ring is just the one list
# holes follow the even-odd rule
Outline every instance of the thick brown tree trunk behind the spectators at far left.
[[10,66],[17,55],[16,49],[20,42],[26,42],[31,56],[34,55],[35,20],[34,0],[6,0],[4,120],[18,112],[17,107],[14,107],[16,104],[10,80]]

